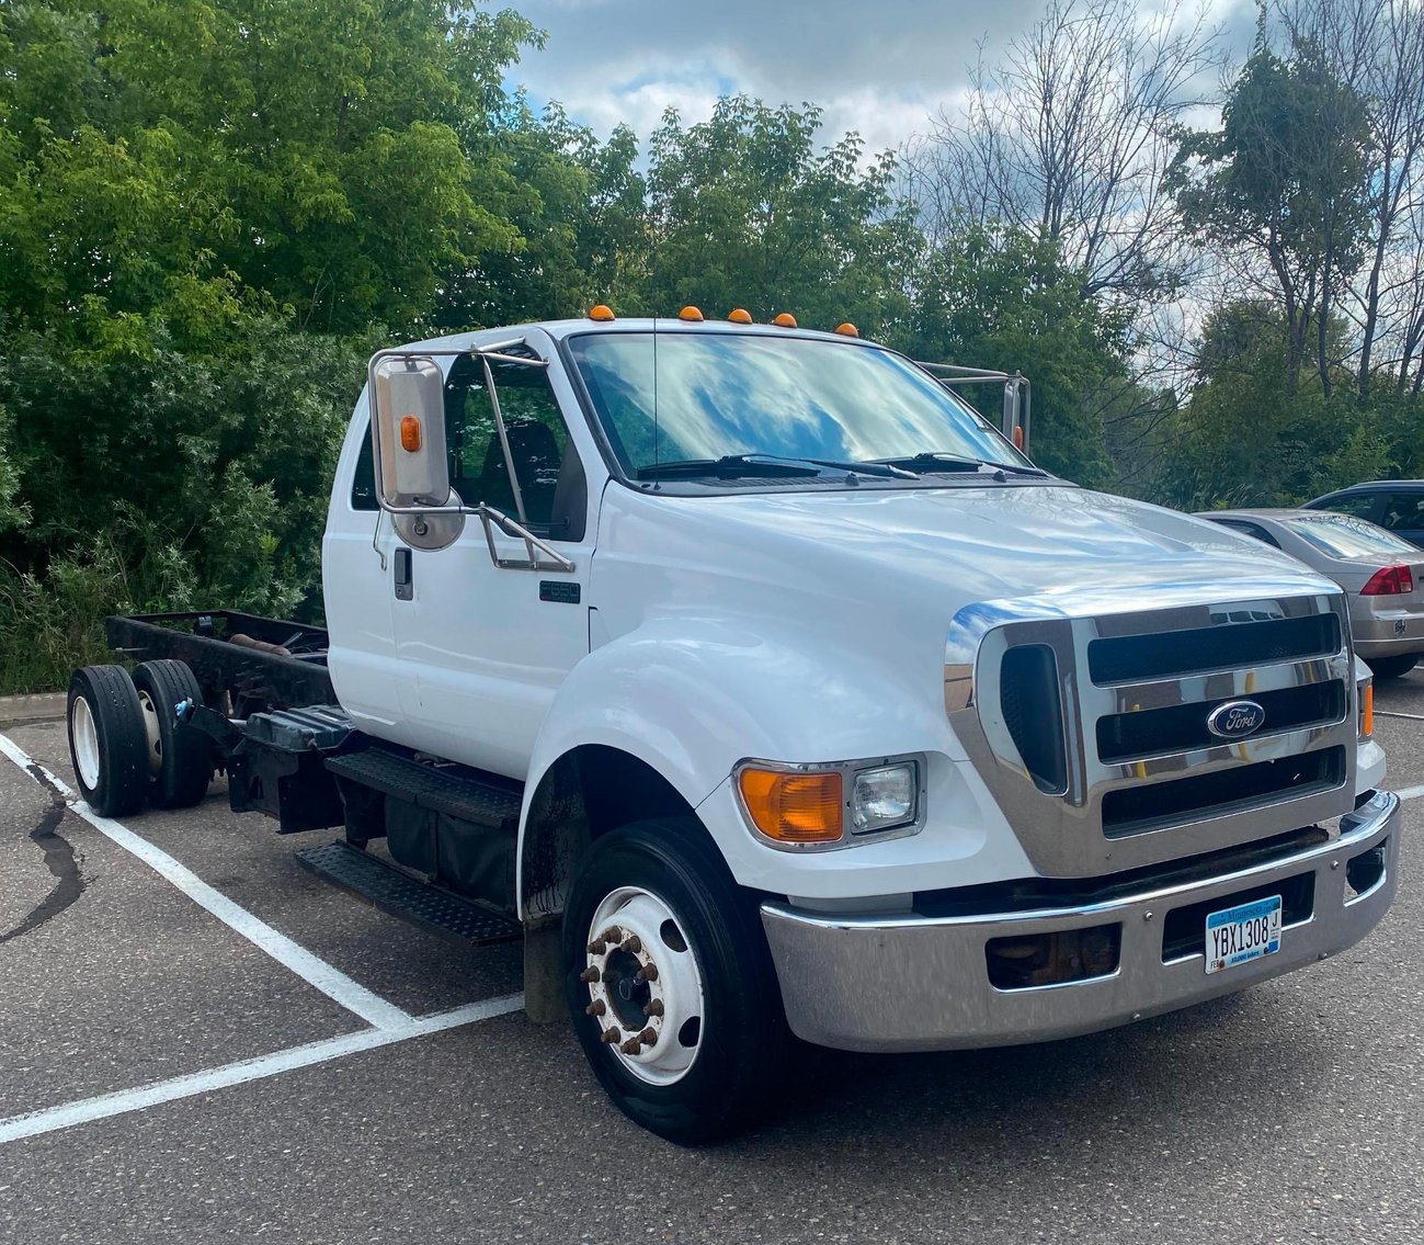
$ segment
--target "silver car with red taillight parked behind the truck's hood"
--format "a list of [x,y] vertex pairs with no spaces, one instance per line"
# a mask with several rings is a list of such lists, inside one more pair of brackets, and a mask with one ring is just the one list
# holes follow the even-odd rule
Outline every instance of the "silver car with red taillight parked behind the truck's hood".
[[1424,550],[1418,546],[1329,510],[1212,510],[1198,519],[1273,544],[1344,588],[1354,651],[1376,678],[1398,678],[1424,655]]

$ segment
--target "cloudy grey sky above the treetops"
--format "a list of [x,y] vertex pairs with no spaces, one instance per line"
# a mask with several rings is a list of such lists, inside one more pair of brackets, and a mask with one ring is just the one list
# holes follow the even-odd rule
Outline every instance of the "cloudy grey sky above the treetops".
[[[993,61],[1044,0],[510,0],[548,33],[510,74],[538,105],[560,100],[607,134],[641,138],[665,107],[705,118],[719,94],[813,101],[826,138],[859,130],[870,151],[899,147],[964,98],[977,46]],[[1142,4],[1158,0],[1142,0]],[[1237,61],[1252,0],[1210,0]]]

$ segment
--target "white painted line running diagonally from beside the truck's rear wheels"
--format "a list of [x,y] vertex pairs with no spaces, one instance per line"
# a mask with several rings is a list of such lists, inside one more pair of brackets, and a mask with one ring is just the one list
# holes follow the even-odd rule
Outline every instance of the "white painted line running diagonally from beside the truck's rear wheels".
[[394,1003],[387,1003],[379,994],[353,981],[340,969],[328,964],[320,956],[313,956],[306,947],[292,942],[286,934],[278,933],[265,920],[259,920],[245,907],[238,906],[221,890],[215,890],[197,873],[179,865],[161,848],[155,848],[148,839],[140,838],[128,826],[120,825],[110,818],[101,818],[70,786],[56,775],[50,773],[34,758],[24,752],[14,741],[0,735],[0,754],[9,756],[16,765],[27,771],[31,778],[43,775],[43,781],[58,792],[70,811],[83,818],[107,839],[117,843],[125,852],[137,856],[150,869],[159,873],[199,907],[211,912],[234,933],[241,934],[258,950],[266,952],[285,969],[290,969],[309,986],[320,990],[328,999],[339,1003],[347,1011],[356,1013],[367,1024],[377,1030],[404,1030],[414,1017]]

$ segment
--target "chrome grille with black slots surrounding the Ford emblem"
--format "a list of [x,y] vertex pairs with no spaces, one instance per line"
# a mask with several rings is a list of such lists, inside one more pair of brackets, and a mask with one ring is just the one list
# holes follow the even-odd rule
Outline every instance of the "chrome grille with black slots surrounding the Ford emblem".
[[[956,618],[946,708],[1045,876],[1132,869],[1350,811],[1344,598],[1190,595],[1151,611],[1094,601],[1084,615],[1000,601]],[[1208,717],[1235,699],[1259,704],[1262,725],[1212,735]]]

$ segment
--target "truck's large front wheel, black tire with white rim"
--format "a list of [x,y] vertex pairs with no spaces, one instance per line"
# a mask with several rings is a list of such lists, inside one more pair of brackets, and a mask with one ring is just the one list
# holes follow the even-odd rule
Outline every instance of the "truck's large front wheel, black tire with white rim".
[[594,842],[564,910],[564,984],[594,1074],[644,1128],[699,1145],[773,1101],[789,1034],[760,915],[696,822]]

